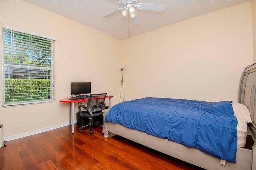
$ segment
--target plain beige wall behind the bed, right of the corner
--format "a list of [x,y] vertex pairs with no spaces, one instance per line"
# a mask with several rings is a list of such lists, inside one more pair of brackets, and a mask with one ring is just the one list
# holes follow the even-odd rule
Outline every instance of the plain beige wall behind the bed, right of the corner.
[[[253,62],[251,2],[125,40],[125,100],[170,97],[238,100]],[[129,48],[125,48],[129,47]]]

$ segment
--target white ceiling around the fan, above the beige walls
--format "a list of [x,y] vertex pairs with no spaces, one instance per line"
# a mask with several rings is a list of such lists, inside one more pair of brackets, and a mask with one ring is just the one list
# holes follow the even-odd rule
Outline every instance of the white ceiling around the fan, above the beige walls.
[[124,7],[117,0],[26,1],[124,40],[202,14],[248,2],[249,0],[138,0],[138,3],[147,2],[166,5],[166,10],[163,12],[136,8],[136,17],[140,21],[138,26],[134,26],[132,21],[129,24],[129,17],[122,17],[121,11],[110,18],[102,18],[103,15],[116,8]]

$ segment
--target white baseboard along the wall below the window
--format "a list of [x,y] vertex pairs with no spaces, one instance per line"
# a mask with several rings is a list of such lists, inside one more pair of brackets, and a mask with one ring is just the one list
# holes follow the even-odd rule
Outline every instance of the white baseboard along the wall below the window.
[[[76,121],[75,121],[75,123],[76,123]],[[53,129],[60,128],[60,127],[64,127],[64,126],[68,126],[68,122],[67,123],[62,123],[62,124],[59,124],[59,125],[53,125],[53,126],[46,127],[46,128],[32,130],[30,132],[24,132],[24,133],[15,134],[15,135],[12,135],[12,136],[6,136],[6,137],[4,137],[4,140],[10,141],[10,140],[18,139],[18,138],[24,138],[26,136],[46,132],[46,131],[53,130]],[[72,126],[72,124],[71,124],[71,126]]]

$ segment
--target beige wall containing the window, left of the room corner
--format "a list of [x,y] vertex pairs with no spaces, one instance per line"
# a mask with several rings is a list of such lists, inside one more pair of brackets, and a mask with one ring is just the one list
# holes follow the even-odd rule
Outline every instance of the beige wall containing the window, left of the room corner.
[[120,94],[120,40],[25,1],[0,3],[1,34],[5,24],[56,38],[56,102],[1,107],[4,136],[67,123],[68,104],[58,100],[70,96],[72,81],[92,82],[92,93]]

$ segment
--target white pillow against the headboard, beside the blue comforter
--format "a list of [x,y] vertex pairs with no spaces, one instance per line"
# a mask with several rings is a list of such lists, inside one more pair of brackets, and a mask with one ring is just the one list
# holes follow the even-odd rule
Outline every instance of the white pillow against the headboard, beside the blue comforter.
[[245,123],[252,123],[250,111],[245,105],[232,102],[232,107],[236,119],[241,119]]

